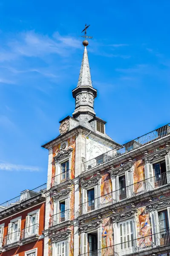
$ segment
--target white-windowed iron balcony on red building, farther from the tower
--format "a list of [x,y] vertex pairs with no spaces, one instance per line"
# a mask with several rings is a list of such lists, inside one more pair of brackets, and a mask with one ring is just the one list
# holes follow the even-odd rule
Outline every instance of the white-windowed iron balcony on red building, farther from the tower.
[[20,246],[20,231],[8,234],[4,237],[3,248],[12,249]]

